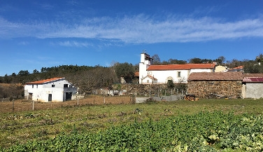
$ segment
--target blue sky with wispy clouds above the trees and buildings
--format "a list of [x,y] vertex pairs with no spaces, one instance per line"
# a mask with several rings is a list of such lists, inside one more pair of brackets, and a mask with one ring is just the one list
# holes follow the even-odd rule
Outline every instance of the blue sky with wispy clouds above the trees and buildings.
[[255,60],[262,0],[0,0],[0,76],[59,65]]

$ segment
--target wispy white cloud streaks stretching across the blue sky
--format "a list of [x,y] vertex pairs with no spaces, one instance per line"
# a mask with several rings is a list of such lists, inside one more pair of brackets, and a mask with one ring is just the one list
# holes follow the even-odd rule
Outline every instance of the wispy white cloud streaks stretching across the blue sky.
[[[213,18],[179,18],[172,15],[158,20],[148,15],[123,18],[86,18],[75,24],[63,22],[9,22],[0,18],[0,38],[36,37],[108,39],[124,43],[213,41],[263,37],[263,19],[224,22]],[[61,46],[90,46],[90,43],[64,41]]]

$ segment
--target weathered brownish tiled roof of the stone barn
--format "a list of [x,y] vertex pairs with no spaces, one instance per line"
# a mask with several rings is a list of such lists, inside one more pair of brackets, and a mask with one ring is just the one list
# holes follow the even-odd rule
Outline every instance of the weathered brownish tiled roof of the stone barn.
[[187,81],[242,81],[241,72],[194,72],[190,74]]

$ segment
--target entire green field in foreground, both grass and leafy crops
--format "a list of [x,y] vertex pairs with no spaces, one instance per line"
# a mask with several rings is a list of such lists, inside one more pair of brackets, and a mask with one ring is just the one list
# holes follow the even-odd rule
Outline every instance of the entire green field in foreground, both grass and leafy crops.
[[0,151],[262,151],[262,113],[263,99],[1,113]]

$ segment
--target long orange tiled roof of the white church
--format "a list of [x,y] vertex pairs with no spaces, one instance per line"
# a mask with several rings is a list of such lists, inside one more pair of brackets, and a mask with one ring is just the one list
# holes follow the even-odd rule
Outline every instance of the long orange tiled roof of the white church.
[[214,69],[215,64],[168,64],[168,65],[150,65],[148,71],[164,70],[189,70],[189,69]]

